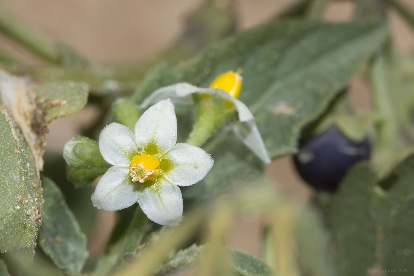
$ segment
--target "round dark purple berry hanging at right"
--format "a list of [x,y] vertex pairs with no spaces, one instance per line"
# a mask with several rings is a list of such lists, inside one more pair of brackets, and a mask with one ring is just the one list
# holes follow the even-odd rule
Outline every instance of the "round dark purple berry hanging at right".
[[356,162],[368,160],[370,152],[368,138],[356,143],[332,125],[323,133],[299,142],[294,164],[310,186],[335,191],[348,169]]

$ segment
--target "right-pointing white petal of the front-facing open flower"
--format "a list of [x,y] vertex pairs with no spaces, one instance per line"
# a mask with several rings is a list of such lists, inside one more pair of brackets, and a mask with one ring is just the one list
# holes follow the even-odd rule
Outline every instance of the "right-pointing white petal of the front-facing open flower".
[[213,166],[211,156],[203,149],[186,143],[176,144],[166,155],[173,167],[163,173],[178,186],[190,186],[203,179]]

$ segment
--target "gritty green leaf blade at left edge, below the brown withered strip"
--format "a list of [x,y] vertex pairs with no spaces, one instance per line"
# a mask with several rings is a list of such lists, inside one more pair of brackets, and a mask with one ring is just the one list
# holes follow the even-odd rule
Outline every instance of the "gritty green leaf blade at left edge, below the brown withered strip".
[[34,156],[0,106],[0,251],[26,247],[33,253],[43,197]]

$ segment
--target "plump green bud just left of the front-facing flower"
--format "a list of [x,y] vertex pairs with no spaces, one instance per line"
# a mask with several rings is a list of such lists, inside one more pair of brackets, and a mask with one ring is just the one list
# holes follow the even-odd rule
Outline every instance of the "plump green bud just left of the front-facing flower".
[[87,186],[111,167],[103,160],[98,143],[79,135],[65,144],[63,158],[67,163],[67,178],[77,186]]

